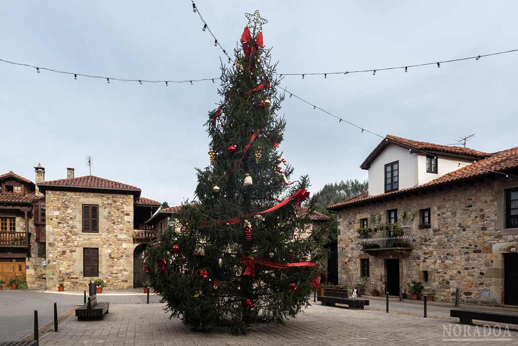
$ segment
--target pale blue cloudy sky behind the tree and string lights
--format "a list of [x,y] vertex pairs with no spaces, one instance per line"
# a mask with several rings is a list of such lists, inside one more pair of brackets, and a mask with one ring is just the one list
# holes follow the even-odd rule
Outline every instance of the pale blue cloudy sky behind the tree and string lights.
[[[189,0],[5,1],[0,59],[133,79],[218,78],[224,57]],[[279,73],[327,73],[450,60],[518,48],[513,1],[196,1],[232,51],[258,9]],[[404,70],[285,77],[281,86],[381,134],[494,152],[518,146],[518,52]],[[223,61],[226,61],[224,57]],[[192,198],[195,167],[209,164],[204,123],[217,83],[143,84],[88,79],[0,63],[0,174],[34,181],[89,174],[131,185],[142,197]],[[380,138],[286,97],[283,157],[310,191],[359,168]]]

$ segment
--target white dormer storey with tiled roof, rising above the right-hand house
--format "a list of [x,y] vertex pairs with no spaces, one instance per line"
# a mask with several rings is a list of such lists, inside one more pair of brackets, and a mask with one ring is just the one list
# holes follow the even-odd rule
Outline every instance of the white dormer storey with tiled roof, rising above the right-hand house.
[[369,171],[368,195],[375,196],[428,183],[489,155],[387,135],[361,168]]

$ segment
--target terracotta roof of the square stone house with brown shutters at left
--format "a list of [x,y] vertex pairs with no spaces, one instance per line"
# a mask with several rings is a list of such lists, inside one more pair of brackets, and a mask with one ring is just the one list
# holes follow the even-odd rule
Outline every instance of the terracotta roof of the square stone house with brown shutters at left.
[[95,176],[84,176],[77,178],[67,178],[59,180],[49,180],[38,184],[41,191],[48,187],[59,188],[82,188],[82,189],[100,189],[100,190],[118,190],[137,192],[140,195],[140,189],[136,186],[123,184],[117,181],[99,178]]

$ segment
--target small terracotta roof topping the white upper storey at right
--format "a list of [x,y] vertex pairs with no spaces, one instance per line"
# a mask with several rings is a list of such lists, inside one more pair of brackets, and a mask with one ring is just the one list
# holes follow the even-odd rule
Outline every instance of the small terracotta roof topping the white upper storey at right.
[[425,151],[429,152],[430,154],[449,154],[456,157],[461,157],[465,159],[472,159],[472,160],[480,160],[481,158],[489,157],[492,154],[491,153],[485,153],[482,151],[470,149],[470,148],[464,148],[464,147],[456,147],[456,146],[445,146],[441,144],[434,144],[434,143],[428,143],[428,142],[422,142],[418,140],[413,139],[407,139],[407,138],[401,138],[396,137],[393,135],[386,135],[385,139],[383,139],[379,145],[372,150],[372,152],[367,156],[365,161],[360,166],[362,169],[368,169],[370,164],[376,160],[376,157],[378,157],[379,154],[388,146],[388,145],[396,145],[403,147],[405,149],[412,149],[414,151]]

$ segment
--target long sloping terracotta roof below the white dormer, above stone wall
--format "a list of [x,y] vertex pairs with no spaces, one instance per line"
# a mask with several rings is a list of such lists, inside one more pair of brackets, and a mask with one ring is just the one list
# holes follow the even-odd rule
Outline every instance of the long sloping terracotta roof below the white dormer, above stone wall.
[[490,157],[484,158],[483,160],[472,163],[468,166],[449,172],[437,179],[434,179],[426,184],[418,186],[412,186],[411,188],[401,189],[398,191],[387,192],[379,195],[369,196],[368,192],[365,191],[357,196],[343,200],[337,204],[327,207],[328,210],[337,210],[343,207],[355,205],[363,201],[383,198],[385,196],[393,196],[402,194],[408,191],[421,190],[426,188],[433,188],[435,186],[462,181],[465,179],[472,179],[481,177],[488,174],[494,174],[492,171],[503,171],[506,172],[510,169],[518,169],[518,147],[499,151],[491,154]]

